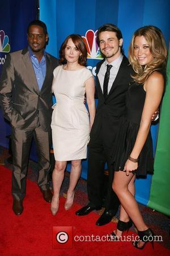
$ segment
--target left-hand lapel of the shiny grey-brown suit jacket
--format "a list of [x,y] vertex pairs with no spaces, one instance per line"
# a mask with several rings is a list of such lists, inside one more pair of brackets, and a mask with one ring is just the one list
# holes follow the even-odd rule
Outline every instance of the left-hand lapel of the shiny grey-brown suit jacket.
[[39,94],[40,93],[39,85],[37,84],[35,71],[34,71],[32,63],[31,63],[28,49],[23,49],[22,54],[23,54],[23,62],[24,62],[25,67],[27,68],[26,70],[28,72],[29,84]]

